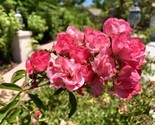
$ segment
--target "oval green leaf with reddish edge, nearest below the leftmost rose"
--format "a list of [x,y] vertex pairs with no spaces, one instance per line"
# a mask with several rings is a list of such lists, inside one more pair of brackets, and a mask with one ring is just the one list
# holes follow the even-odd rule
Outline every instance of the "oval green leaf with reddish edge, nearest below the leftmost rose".
[[11,83],[17,82],[21,78],[25,77],[25,75],[26,75],[26,71],[25,70],[18,70],[18,71],[16,71],[13,74],[12,78],[11,78]]

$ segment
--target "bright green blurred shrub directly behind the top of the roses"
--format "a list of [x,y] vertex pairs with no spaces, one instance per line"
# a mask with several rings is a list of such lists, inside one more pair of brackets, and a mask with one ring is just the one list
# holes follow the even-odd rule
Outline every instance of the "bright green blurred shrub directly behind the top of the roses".
[[77,29],[92,27],[101,29],[102,24],[95,22],[90,13],[84,8],[66,8],[58,7],[48,13],[47,24],[49,26],[50,35],[55,38],[61,31],[65,31],[69,25],[74,25]]

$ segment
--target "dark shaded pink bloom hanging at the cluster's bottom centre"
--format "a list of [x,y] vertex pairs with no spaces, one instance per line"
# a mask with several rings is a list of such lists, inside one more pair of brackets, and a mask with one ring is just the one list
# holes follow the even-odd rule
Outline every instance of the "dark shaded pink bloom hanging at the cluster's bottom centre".
[[99,76],[93,78],[91,82],[88,83],[90,88],[90,94],[93,97],[99,97],[103,93],[103,82]]

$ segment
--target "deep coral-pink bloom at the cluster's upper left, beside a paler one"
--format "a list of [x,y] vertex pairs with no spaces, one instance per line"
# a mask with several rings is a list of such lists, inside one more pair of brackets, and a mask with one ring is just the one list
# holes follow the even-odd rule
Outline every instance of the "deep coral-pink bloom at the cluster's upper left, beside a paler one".
[[74,38],[70,34],[61,32],[57,36],[57,42],[53,49],[58,54],[66,54],[69,53],[72,46],[75,46]]

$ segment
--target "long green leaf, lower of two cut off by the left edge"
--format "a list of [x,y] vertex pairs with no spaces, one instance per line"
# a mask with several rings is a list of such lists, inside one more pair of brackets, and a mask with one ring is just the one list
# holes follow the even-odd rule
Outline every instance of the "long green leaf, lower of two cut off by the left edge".
[[[17,96],[18,97],[18,96]],[[18,103],[19,100],[17,100],[15,97],[10,103],[8,103],[7,105],[5,105],[4,107],[2,107],[0,109],[0,123],[2,124],[3,121],[5,120],[8,112],[14,108],[16,106],[16,104]]]

